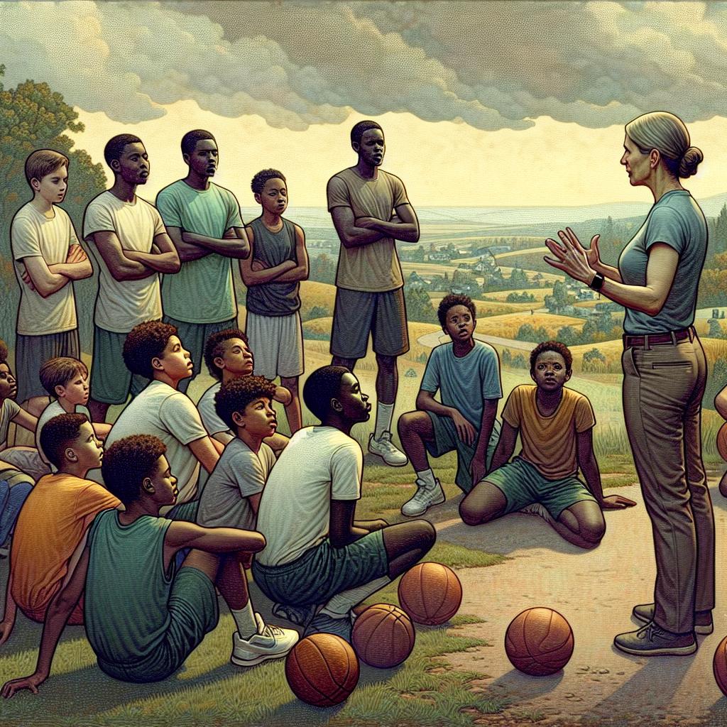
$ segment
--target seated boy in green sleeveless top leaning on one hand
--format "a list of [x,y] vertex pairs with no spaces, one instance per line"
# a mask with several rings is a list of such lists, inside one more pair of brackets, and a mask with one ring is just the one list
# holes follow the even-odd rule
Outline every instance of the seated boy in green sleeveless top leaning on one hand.
[[[101,670],[116,679],[151,682],[172,675],[217,625],[215,586],[238,626],[233,663],[250,666],[285,656],[294,646],[295,632],[286,632],[294,640],[281,638],[275,627],[253,627],[250,634],[244,623],[249,595],[240,563],[265,547],[260,533],[158,517],[160,507],[177,499],[165,451],[164,443],[149,435],[126,437],[105,451],[104,481],[126,510],[104,510],[93,521],[73,576],[48,606],[36,671],[6,683],[3,696],[20,689],[37,692],[48,678],[84,583],[87,636]],[[185,547],[193,550],[177,571],[174,555]],[[267,647],[266,654],[240,658],[258,643]]]

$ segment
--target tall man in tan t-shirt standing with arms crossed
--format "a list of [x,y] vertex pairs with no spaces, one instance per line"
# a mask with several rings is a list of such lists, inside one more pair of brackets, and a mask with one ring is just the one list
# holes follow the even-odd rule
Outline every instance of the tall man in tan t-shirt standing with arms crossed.
[[403,182],[379,169],[386,145],[376,121],[351,129],[356,166],[334,174],[326,190],[328,209],[341,241],[336,272],[331,353],[334,366],[350,371],[374,340],[376,428],[369,451],[387,465],[406,465],[406,454],[391,441],[398,371],[396,358],[409,350],[403,277],[395,240],[417,242],[419,221]]

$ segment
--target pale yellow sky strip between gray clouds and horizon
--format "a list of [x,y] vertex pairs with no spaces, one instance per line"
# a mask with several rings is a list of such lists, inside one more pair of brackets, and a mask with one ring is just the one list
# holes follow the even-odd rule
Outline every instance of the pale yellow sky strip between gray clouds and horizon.
[[[230,188],[242,206],[254,206],[249,181],[272,166],[288,179],[291,206],[325,206],[326,182],[356,162],[350,127],[366,117],[352,114],[340,125],[310,126],[305,132],[274,129],[260,116],[229,119],[194,101],[166,106],[160,119],[137,124],[111,121],[105,113],[79,110],[86,131],[77,145],[103,162],[103,147],[114,134],[137,134],[145,143],[151,174],[141,196],[186,172],[180,139],[189,129],[208,129],[220,147],[215,181]],[[650,202],[646,188],[630,188],[619,164],[623,127],[586,129],[548,117],[531,129],[485,132],[449,121],[431,123],[409,113],[374,118],[387,140],[383,168],[402,178],[414,206],[578,206],[606,202]],[[696,177],[685,186],[697,198],[727,191],[727,119],[688,125],[692,143],[704,152]],[[108,169],[105,167],[107,175]],[[71,183],[73,178],[71,175]]]

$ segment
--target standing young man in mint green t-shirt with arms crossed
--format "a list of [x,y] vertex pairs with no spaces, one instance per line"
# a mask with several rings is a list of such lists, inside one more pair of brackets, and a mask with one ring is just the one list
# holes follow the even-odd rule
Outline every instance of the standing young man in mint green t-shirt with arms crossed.
[[[156,206],[182,263],[161,282],[164,322],[177,328],[199,371],[210,334],[237,325],[237,300],[230,258],[248,257],[240,206],[230,190],[210,181],[220,156],[210,132],[182,137],[188,174],[156,196]],[[185,392],[191,379],[180,382]]]

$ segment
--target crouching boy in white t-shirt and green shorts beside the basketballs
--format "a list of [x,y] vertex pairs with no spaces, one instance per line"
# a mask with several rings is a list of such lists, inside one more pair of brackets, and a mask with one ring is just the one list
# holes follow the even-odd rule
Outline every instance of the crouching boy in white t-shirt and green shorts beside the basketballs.
[[[343,366],[313,371],[303,387],[321,425],[290,439],[257,511],[267,545],[252,574],[273,613],[350,640],[353,607],[407,571],[434,545],[431,523],[357,521],[364,457],[350,437],[369,419],[369,397]],[[314,615],[315,614],[315,615]]]

